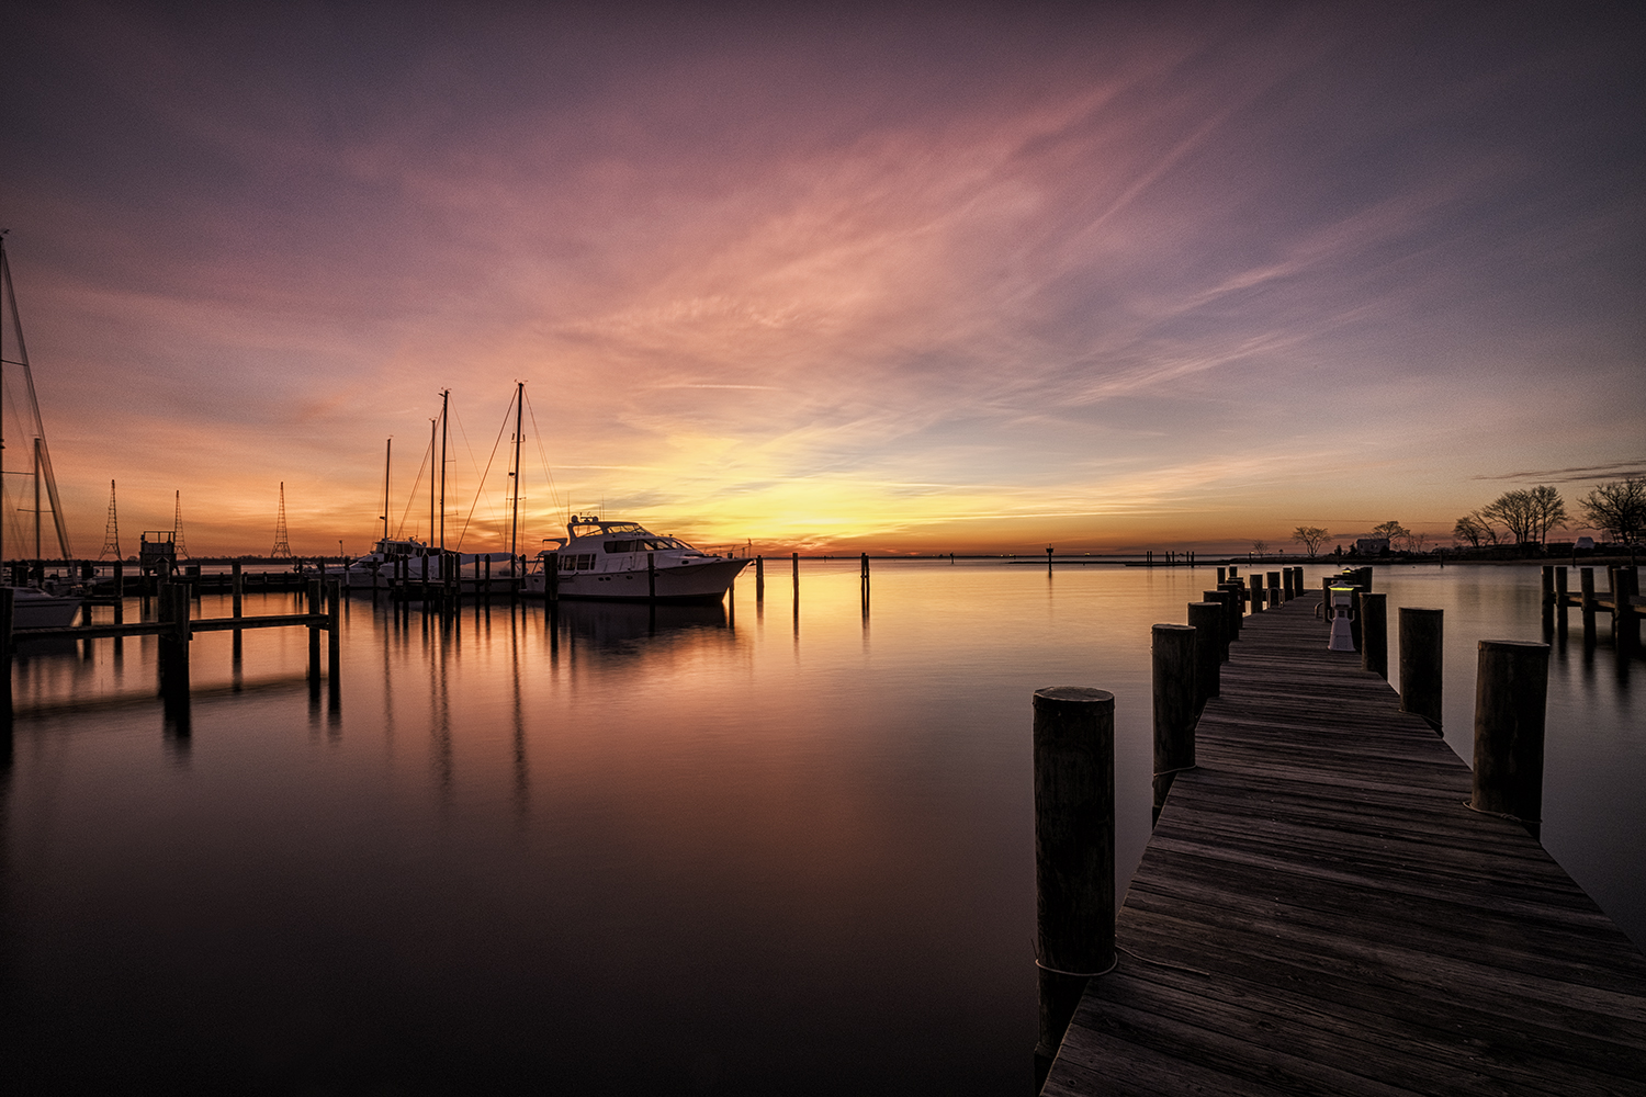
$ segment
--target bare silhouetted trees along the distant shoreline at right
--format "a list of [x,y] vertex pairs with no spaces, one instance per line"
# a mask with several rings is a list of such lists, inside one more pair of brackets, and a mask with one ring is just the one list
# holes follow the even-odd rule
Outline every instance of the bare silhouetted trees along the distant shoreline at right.
[[[1598,530],[1606,541],[1638,544],[1646,531],[1646,477],[1628,477],[1597,484],[1588,495],[1577,500],[1582,523]],[[1554,530],[1564,530],[1572,516],[1565,510],[1560,492],[1549,484],[1504,492],[1478,510],[1472,510],[1452,526],[1458,544],[1481,548],[1483,544],[1542,544]],[[1429,536],[1412,533],[1399,521],[1384,521],[1371,530],[1374,538],[1388,538],[1409,553],[1422,553]],[[1332,535],[1322,526],[1297,526],[1292,539],[1314,556]],[[1254,543],[1256,544],[1256,543]],[[1267,546],[1266,546],[1267,548]]]

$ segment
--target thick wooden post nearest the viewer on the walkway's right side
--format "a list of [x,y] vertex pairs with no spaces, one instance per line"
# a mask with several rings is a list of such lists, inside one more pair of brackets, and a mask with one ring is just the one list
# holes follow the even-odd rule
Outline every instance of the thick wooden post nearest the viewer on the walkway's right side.
[[1509,816],[1539,837],[1549,645],[1481,640],[1475,674],[1475,794],[1468,806]]

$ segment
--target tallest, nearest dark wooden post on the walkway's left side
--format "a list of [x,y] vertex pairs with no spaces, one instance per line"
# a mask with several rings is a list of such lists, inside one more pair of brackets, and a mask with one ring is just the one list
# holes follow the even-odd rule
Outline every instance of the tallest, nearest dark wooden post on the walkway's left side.
[[1050,686],[1034,694],[1035,1090],[1086,980],[1114,967],[1114,694]]

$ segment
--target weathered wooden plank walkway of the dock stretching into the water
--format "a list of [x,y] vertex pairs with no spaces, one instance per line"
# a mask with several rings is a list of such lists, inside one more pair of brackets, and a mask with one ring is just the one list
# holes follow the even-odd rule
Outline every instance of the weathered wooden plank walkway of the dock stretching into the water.
[[1318,602],[1244,620],[1044,1092],[1646,1094],[1646,957]]

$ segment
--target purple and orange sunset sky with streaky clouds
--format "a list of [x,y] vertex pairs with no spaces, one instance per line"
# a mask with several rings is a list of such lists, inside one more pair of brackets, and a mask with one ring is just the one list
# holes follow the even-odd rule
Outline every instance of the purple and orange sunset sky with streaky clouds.
[[1448,543],[1646,472],[1636,5],[18,0],[0,35],[82,558],[110,480],[127,554],[179,503],[189,553],[267,553],[281,485],[295,553],[364,553],[390,437],[426,538],[443,390],[446,544],[507,548],[517,382],[520,551],[568,510],[765,553]]

